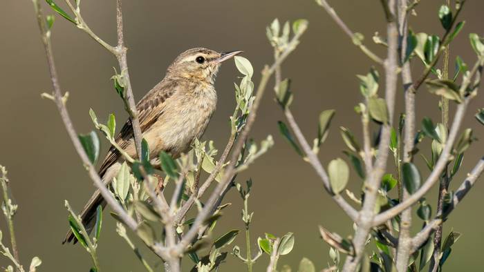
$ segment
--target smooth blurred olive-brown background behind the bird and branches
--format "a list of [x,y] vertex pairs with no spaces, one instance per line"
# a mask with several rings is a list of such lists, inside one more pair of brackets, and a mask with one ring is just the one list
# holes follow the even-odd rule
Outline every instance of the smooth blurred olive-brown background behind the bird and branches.
[[[58,1],[59,3],[63,1]],[[308,32],[297,50],[283,66],[283,76],[293,81],[295,101],[292,109],[308,139],[317,133],[317,115],[321,110],[337,109],[330,137],[322,147],[320,158],[324,165],[334,157],[344,157],[342,139],[338,126],[348,126],[357,135],[360,122],[353,106],[360,101],[355,74],[366,74],[371,62],[353,46],[326,12],[312,0],[277,1],[124,1],[125,37],[129,47],[129,67],[136,99],[156,84],[165,69],[178,53],[198,46],[214,50],[244,50],[244,56],[252,61],[254,70],[272,61],[272,51],[266,41],[265,27],[274,17],[281,21],[306,18],[310,21]],[[384,35],[384,15],[375,1],[331,1],[348,26],[362,32],[366,44],[384,57],[384,49],[371,42],[373,32]],[[443,1],[422,1],[418,17],[411,17],[415,32],[442,33],[437,17],[438,6]],[[106,41],[115,41],[115,1],[88,1],[81,3],[84,19]],[[467,1],[462,17],[467,21],[463,32],[452,46],[468,64],[474,63],[474,52],[469,46],[468,33],[483,33],[483,1]],[[44,11],[52,14],[44,5]],[[97,116],[106,117],[116,113],[118,123],[126,117],[122,103],[109,80],[117,63],[104,48],[92,41],[73,24],[56,16],[53,28],[53,48],[60,82],[63,90],[71,96],[68,109],[81,133],[93,129],[88,115],[93,108]],[[32,3],[28,0],[2,0],[0,8],[0,164],[8,168],[12,191],[20,208],[17,213],[16,231],[21,260],[30,263],[33,255],[43,260],[40,271],[88,271],[89,255],[80,246],[64,245],[61,241],[67,230],[64,200],[70,200],[77,211],[91,196],[93,186],[71,146],[57,110],[51,101],[40,98],[40,93],[50,92],[48,70],[41,46]],[[417,62],[417,61],[415,61]],[[453,67],[453,65],[452,65]],[[414,77],[420,73],[416,65]],[[233,62],[224,64],[218,75],[216,87],[218,110],[205,133],[205,139],[215,139],[216,146],[225,146],[230,133],[227,117],[234,106],[234,81],[238,72]],[[259,80],[259,73],[254,81]],[[380,90],[382,92],[382,90]],[[281,111],[272,98],[272,86],[263,101],[252,136],[263,139],[274,135],[276,146],[257,161],[239,178],[254,179],[250,208],[254,211],[252,242],[264,232],[283,235],[295,233],[295,250],[281,257],[279,265],[297,267],[303,257],[310,258],[322,269],[328,262],[328,246],[319,238],[317,225],[346,236],[353,233],[348,218],[326,195],[313,169],[295,154],[279,136],[277,120],[283,119]],[[398,96],[397,113],[402,110],[402,91]],[[418,93],[418,119],[424,116],[440,118],[438,98],[429,95],[425,87]],[[484,106],[483,97],[472,104],[465,126],[475,128],[476,137],[484,139],[484,127],[476,123],[472,115],[476,108]],[[454,109],[454,107],[452,107]],[[103,152],[107,148],[102,142]],[[452,186],[455,188],[469,171],[476,159],[483,155],[483,142],[476,142],[464,159],[464,166]],[[428,150],[422,150],[429,154]],[[344,157],[346,159],[346,157]],[[428,171],[422,159],[422,175]],[[391,167],[392,164],[390,164]],[[352,176],[351,188],[357,190],[361,181]],[[482,182],[481,182],[482,183]],[[481,217],[484,186],[478,183],[465,201],[459,205],[445,224],[449,229],[463,233],[454,246],[447,271],[465,267],[476,271],[482,266],[484,220]],[[435,203],[436,191],[429,194]],[[232,191],[225,202],[232,206],[216,229],[243,230],[240,211],[242,202]],[[107,215],[107,213],[106,213]],[[113,220],[105,216],[99,255],[105,271],[143,271],[128,246],[114,231]],[[0,221],[5,228],[3,217]],[[416,220],[416,228],[420,222]],[[133,235],[131,235],[133,236]],[[7,240],[4,235],[4,241]],[[243,232],[227,248],[238,244],[243,249]],[[146,252],[153,263],[156,258]],[[0,266],[8,264],[0,259]],[[190,266],[189,266],[189,265]],[[255,271],[265,270],[268,257],[264,255]],[[159,264],[158,264],[159,265]],[[185,270],[191,267],[185,262]],[[158,270],[161,267],[158,266]],[[245,271],[245,266],[232,256],[222,271]]]

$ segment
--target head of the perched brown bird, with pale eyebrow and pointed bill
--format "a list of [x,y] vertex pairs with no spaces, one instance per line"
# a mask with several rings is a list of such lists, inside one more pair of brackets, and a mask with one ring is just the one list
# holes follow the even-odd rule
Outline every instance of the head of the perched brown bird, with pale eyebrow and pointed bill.
[[219,53],[207,48],[189,49],[176,57],[173,64],[169,66],[167,75],[213,83],[222,62],[241,52]]

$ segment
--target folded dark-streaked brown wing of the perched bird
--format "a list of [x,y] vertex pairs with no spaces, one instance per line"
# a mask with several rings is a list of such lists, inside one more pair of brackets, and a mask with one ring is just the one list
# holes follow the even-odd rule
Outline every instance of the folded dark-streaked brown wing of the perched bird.
[[[177,87],[178,84],[176,81],[163,80],[154,86],[147,95],[138,102],[136,109],[138,110],[141,133],[145,133],[149,130],[149,128],[151,128],[156,120],[158,120],[163,114],[165,101],[176,92]],[[115,142],[124,149],[127,148],[132,141],[133,126],[131,126],[131,120],[128,119],[121,128],[120,133],[116,136]],[[119,158],[119,151],[114,146],[111,146],[99,170],[100,176],[102,177],[106,170],[118,161]]]

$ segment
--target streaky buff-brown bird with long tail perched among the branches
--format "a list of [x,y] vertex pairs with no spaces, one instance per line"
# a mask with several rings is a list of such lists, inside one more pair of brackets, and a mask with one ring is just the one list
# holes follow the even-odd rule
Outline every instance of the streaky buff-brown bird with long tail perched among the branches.
[[[189,151],[195,139],[200,139],[216,108],[214,83],[218,68],[223,61],[241,52],[220,53],[207,48],[186,50],[167,68],[162,81],[138,101],[136,110],[150,159],[156,159],[161,151],[179,157]],[[136,156],[131,119],[121,128],[115,142],[129,156]],[[118,175],[123,162],[119,150],[111,146],[98,171],[104,184],[108,185]],[[89,233],[93,230],[97,206],[100,205],[104,208],[106,201],[98,189],[80,214]],[[62,244],[66,242],[77,242],[71,230]]]

